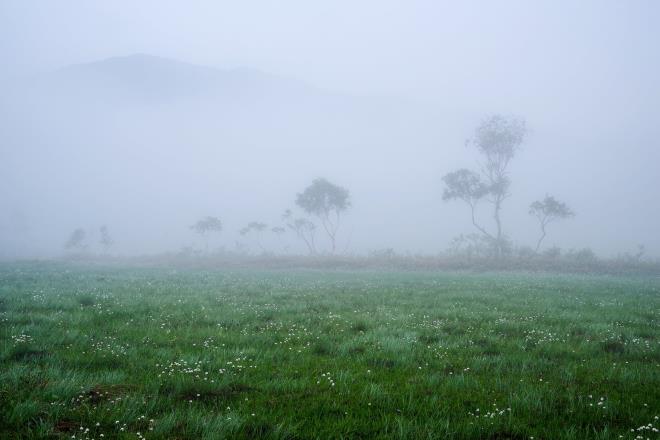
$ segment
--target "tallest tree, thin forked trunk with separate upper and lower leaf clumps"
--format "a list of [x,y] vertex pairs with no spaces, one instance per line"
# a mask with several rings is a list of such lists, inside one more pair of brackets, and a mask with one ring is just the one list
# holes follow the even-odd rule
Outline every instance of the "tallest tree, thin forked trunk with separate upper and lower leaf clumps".
[[[480,153],[481,172],[458,170],[445,175],[444,200],[460,199],[471,209],[473,226],[493,242],[496,255],[502,255],[505,238],[502,228],[502,203],[510,196],[511,181],[508,168],[511,160],[520,149],[527,128],[525,121],[494,115],[485,119],[475,130],[473,143]],[[475,206],[480,200],[492,205],[495,231],[488,232],[476,222]]]

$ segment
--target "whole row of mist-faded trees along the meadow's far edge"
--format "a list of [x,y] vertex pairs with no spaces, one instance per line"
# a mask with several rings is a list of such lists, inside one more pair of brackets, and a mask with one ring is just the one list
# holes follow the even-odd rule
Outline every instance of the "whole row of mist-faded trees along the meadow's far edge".
[[[471,239],[483,243],[495,257],[505,255],[510,248],[511,242],[505,233],[501,213],[504,202],[511,196],[509,166],[527,134],[526,123],[522,119],[502,115],[484,119],[477,126],[474,137],[467,141],[467,144],[473,145],[479,153],[480,161],[476,170],[461,168],[442,177],[443,200],[461,201],[467,206],[471,225],[476,230],[476,236],[471,235]],[[327,179],[317,178],[297,194],[295,205],[299,213],[287,209],[282,215],[281,225],[269,227],[266,223],[251,221],[240,229],[239,233],[252,239],[262,252],[266,252],[262,244],[263,234],[271,233],[282,237],[288,230],[304,244],[310,255],[317,255],[320,253],[317,246],[317,233],[320,231],[328,240],[327,252],[335,254],[342,217],[351,207],[349,190]],[[490,207],[490,226],[477,218],[477,207],[480,205]],[[528,213],[539,225],[535,252],[541,249],[550,223],[575,215],[566,203],[548,194],[533,201],[529,205]],[[209,239],[223,230],[223,223],[219,217],[206,216],[191,225],[190,229],[202,238],[205,252],[208,253]],[[107,253],[114,240],[106,226],[100,227],[99,233],[99,244]],[[87,246],[83,228],[75,229],[65,244],[67,249],[77,251],[85,251]]]

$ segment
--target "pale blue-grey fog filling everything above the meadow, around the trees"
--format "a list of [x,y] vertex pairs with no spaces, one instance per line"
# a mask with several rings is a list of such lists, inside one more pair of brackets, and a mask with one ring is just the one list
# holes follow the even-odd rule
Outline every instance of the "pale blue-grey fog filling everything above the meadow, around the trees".
[[[525,120],[502,207],[514,246],[660,255],[660,6],[651,1],[0,4],[0,257],[204,244],[256,254],[323,177],[350,191],[338,252],[436,254],[475,232],[443,176],[475,129]],[[485,204],[479,220],[492,228]],[[312,217],[310,217],[312,218]],[[318,232],[318,231],[317,231]],[[320,251],[329,249],[318,232]],[[96,246],[96,247],[95,247]],[[289,231],[274,253],[306,252]]]

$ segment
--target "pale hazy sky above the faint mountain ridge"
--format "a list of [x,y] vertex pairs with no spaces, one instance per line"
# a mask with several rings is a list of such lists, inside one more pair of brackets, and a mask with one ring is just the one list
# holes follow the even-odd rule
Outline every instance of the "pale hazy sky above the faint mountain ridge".
[[5,74],[144,52],[360,93],[552,106],[565,88],[657,93],[659,19],[655,1],[3,0],[0,56]]

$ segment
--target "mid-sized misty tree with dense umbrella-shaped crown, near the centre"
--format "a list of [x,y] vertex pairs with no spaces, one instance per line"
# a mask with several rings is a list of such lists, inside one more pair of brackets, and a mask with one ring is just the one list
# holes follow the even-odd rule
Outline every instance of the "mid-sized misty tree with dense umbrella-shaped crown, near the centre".
[[349,197],[346,188],[319,178],[315,179],[296,198],[296,204],[300,208],[320,220],[321,226],[330,239],[332,253],[337,248],[337,231],[341,214],[351,206]]

